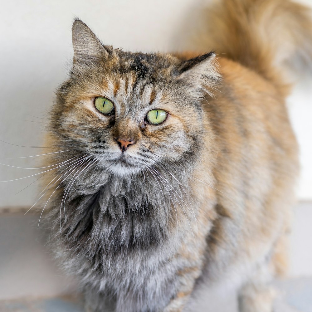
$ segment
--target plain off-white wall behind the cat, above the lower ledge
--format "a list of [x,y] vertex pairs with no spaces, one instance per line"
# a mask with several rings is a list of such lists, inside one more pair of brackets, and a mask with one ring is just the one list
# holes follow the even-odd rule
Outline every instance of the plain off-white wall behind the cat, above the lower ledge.
[[[192,50],[188,38],[200,19],[201,0],[55,0],[6,1],[0,12],[0,139],[11,144],[40,145],[45,111],[53,91],[66,79],[72,57],[71,23],[75,16],[86,22],[105,44],[126,50]],[[307,2],[307,1],[305,1]],[[207,47],[209,50],[211,47]],[[312,96],[311,77],[290,97],[291,118],[301,147],[300,199],[312,199]],[[25,121],[32,120],[32,121]],[[42,122],[42,123],[41,123]],[[0,142],[0,158],[41,154]],[[21,167],[38,167],[36,158],[3,160]],[[35,172],[0,166],[0,181]],[[0,183],[0,207],[31,205],[37,177]]]

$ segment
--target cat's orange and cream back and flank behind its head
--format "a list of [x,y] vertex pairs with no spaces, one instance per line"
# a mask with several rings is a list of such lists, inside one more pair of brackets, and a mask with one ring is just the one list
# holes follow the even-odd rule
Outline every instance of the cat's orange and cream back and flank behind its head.
[[210,275],[220,267],[227,274],[237,272],[241,263],[261,259],[277,243],[287,231],[298,172],[297,143],[282,92],[236,62],[218,62],[222,82],[204,101],[208,131],[215,137],[205,153],[216,156],[218,218],[207,238]]

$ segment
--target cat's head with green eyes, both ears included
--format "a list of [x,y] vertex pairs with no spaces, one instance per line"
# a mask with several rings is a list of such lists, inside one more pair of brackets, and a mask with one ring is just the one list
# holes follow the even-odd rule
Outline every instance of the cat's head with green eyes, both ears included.
[[150,166],[191,168],[203,144],[201,102],[219,78],[214,54],[182,61],[125,52],[103,46],[79,20],[72,32],[73,67],[58,90],[54,133],[118,177]]

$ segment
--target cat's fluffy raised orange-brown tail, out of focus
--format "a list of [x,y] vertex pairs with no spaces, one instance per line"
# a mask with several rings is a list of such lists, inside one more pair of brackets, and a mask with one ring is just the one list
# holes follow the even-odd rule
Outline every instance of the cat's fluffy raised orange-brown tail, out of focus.
[[[283,90],[285,63],[312,68],[311,11],[290,0],[221,0],[209,10],[207,45]],[[222,56],[222,55],[221,55]]]

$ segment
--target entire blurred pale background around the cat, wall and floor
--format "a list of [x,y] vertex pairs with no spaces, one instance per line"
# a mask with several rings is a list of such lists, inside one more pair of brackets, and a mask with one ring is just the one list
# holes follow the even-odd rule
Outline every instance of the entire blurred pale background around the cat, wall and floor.
[[[42,144],[46,112],[55,100],[56,87],[66,79],[70,68],[73,55],[71,24],[76,17],[84,21],[103,43],[124,50],[207,52],[214,47],[200,46],[200,41],[194,41],[193,38],[205,27],[202,12],[210,2],[2,2],[0,163],[24,168],[40,167],[40,158],[44,156],[28,156],[44,154],[44,148],[38,147]],[[301,2],[312,7],[310,0]],[[283,312],[287,309],[311,312],[312,302],[308,302],[307,298],[312,296],[306,294],[312,293],[309,279],[312,277],[312,75],[294,73],[292,81],[296,85],[288,98],[288,106],[300,144],[301,176],[297,185],[298,205],[294,210],[290,271],[288,280],[280,284],[280,289],[287,294],[292,289],[286,296],[288,301],[292,301],[287,303],[287,307],[284,306]],[[19,305],[24,305],[29,311],[39,311],[43,305],[49,307],[50,301],[40,301],[39,304],[36,298],[53,298],[75,290],[76,282],[63,276],[44,246],[44,233],[40,226],[37,230],[39,215],[24,215],[36,202],[39,188],[35,181],[38,176],[22,177],[35,173],[36,170],[0,165],[0,181],[18,179],[0,183],[1,311],[18,310]],[[297,291],[297,297],[291,299],[291,294],[296,294],[293,285],[300,290]],[[27,304],[23,301],[25,298]],[[56,309],[55,304],[55,301],[51,303],[51,311],[63,311],[60,307]],[[78,309],[70,305],[64,309],[78,311],[70,310]]]

